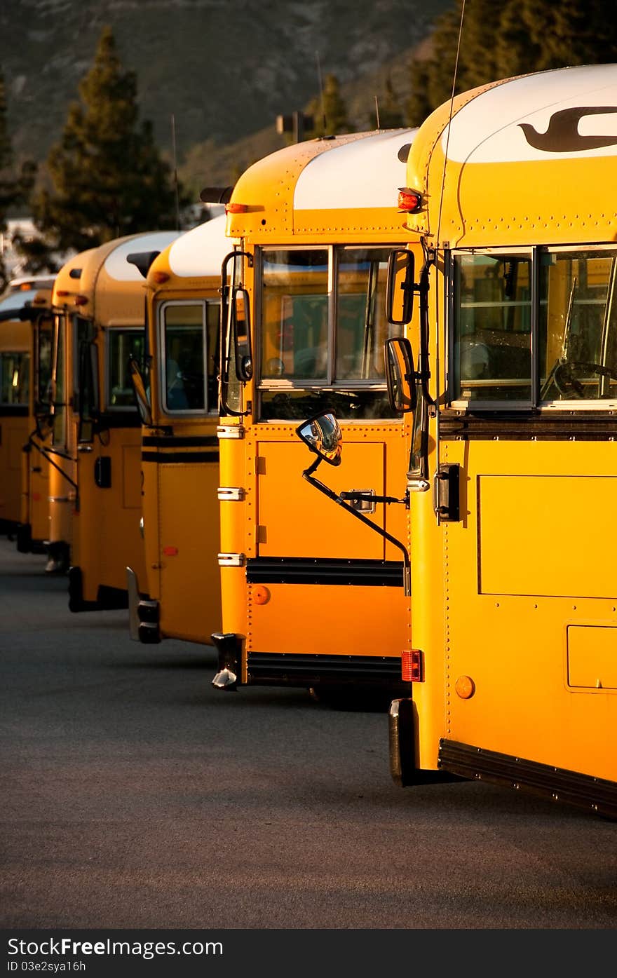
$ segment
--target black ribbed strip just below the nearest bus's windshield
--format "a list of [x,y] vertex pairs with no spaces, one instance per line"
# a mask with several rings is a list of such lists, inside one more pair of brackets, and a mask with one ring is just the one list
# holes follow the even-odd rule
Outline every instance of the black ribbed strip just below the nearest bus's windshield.
[[439,433],[443,439],[456,441],[607,441],[617,438],[617,416],[614,414],[573,416],[571,412],[539,411],[482,412],[458,414],[443,411],[439,416]]

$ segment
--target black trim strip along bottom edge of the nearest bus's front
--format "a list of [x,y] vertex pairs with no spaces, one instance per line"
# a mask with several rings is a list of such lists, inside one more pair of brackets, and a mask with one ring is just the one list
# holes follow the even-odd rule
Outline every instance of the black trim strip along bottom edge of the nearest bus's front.
[[549,801],[564,802],[610,819],[617,818],[615,781],[445,739],[439,741],[437,765],[461,778],[522,788]]

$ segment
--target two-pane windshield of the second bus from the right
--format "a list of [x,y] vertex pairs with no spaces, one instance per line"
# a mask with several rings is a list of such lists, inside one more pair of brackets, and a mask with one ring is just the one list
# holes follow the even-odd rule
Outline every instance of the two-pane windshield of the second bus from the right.
[[261,417],[386,418],[386,247],[263,248]]

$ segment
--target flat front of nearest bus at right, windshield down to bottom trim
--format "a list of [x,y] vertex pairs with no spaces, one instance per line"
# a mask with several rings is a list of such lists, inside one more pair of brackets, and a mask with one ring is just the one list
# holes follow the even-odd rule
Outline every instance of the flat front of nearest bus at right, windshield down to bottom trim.
[[591,804],[560,772],[617,779],[616,268],[610,247],[454,253],[440,414],[441,760]]

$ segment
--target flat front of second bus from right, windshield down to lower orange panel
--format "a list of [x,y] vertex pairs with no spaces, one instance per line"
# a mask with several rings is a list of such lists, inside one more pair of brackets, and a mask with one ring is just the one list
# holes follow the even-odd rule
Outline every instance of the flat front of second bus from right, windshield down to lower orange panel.
[[[333,411],[344,457],[320,478],[337,492],[402,495],[403,424],[389,410],[382,354],[388,253],[364,245],[258,252],[249,668],[252,652],[400,656],[406,641],[400,553],[301,477],[306,447],[295,434],[300,422]],[[403,507],[358,506],[381,529],[405,534]],[[298,626],[307,607],[319,627]]]

